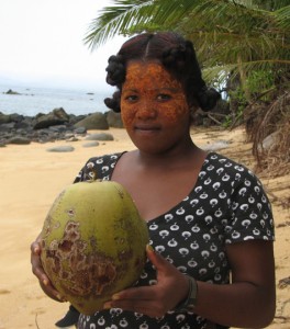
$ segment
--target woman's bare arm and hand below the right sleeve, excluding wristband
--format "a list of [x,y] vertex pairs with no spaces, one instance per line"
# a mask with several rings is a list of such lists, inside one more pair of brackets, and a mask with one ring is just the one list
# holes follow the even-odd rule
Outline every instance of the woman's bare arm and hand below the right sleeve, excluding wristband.
[[[199,281],[194,313],[224,326],[266,327],[274,318],[276,304],[272,242],[237,242],[228,245],[226,252],[233,269],[232,284]],[[147,256],[157,270],[157,284],[122,291],[104,308],[120,307],[161,317],[186,298],[186,275],[158,253],[148,249]]]

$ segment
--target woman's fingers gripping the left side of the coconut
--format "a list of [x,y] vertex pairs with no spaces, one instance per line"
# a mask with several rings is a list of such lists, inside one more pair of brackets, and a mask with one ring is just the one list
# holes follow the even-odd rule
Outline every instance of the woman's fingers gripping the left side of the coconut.
[[42,248],[41,240],[38,237],[34,242],[31,243],[31,264],[33,274],[38,279],[41,287],[47,296],[57,302],[66,302],[55,290],[51,280],[45,274],[41,262],[41,252]]

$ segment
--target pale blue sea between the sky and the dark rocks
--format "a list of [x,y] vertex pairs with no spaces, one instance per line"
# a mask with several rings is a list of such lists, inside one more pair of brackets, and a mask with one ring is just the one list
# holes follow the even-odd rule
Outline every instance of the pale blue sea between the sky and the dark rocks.
[[[5,94],[11,89],[19,94]],[[18,113],[35,116],[38,113],[49,113],[63,107],[67,114],[82,115],[94,112],[107,112],[103,99],[112,92],[91,92],[90,90],[69,90],[53,88],[27,88],[21,86],[0,84],[0,112]]]

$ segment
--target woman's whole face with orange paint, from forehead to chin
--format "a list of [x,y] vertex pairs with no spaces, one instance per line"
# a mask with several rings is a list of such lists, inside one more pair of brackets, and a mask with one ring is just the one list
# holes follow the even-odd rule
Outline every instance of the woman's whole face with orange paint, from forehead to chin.
[[121,115],[140,150],[167,151],[189,136],[190,113],[181,83],[158,63],[129,64]]

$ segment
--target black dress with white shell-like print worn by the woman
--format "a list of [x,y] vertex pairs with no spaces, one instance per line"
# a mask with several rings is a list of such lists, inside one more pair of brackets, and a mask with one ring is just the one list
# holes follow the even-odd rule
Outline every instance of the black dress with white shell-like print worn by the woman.
[[[91,158],[75,182],[110,180],[122,154]],[[150,245],[180,272],[212,284],[230,283],[225,246],[250,239],[274,240],[269,201],[259,180],[244,166],[210,152],[192,191],[164,215],[148,222]],[[147,262],[137,285],[156,283]],[[119,308],[80,315],[79,329],[202,329],[207,319],[192,313],[168,311],[161,318]],[[216,328],[225,328],[217,326]]]

